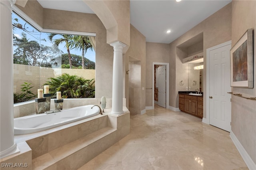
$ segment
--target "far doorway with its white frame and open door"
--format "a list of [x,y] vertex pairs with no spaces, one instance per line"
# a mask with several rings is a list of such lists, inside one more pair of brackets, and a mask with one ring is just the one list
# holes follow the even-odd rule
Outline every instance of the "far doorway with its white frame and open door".
[[[154,109],[154,103],[155,103],[155,66],[161,65],[161,67],[158,67],[158,72],[160,72],[159,79],[159,85],[158,85],[158,91],[160,92],[160,95],[158,97],[158,105],[164,108],[169,109],[169,63],[152,63],[152,109]],[[160,69],[159,69],[160,68]],[[159,74],[158,74],[159,75]],[[160,87],[161,86],[161,87]],[[161,89],[159,89],[159,87]],[[160,103],[159,103],[160,100]]]

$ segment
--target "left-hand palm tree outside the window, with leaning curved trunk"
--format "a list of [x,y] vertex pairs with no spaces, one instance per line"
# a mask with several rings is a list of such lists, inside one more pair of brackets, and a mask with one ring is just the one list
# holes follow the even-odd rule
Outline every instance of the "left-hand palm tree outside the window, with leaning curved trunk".
[[[56,36],[56,35],[60,35],[62,37],[53,40],[53,37]],[[66,43],[65,47],[67,48],[67,51],[68,51],[68,60],[69,60],[69,68],[70,69],[72,69],[72,61],[71,61],[71,55],[70,55],[70,48],[69,47],[70,47],[70,44],[72,42],[72,38],[73,38],[72,35],[67,35],[67,34],[53,34],[53,33],[48,34],[48,39],[52,43],[54,42],[54,45],[59,46],[59,44],[62,43],[62,42]]]

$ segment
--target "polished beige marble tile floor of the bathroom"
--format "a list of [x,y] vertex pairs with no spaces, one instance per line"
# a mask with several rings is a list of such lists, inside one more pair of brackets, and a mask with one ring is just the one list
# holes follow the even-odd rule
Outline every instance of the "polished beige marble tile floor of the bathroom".
[[131,116],[128,136],[79,170],[247,170],[229,132],[155,105]]

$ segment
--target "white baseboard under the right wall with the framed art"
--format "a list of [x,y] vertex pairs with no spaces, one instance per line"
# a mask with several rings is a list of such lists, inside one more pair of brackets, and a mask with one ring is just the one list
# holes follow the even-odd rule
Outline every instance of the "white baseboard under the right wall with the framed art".
[[248,166],[249,170],[256,170],[256,164],[253,162],[252,158],[249,156],[249,154],[246,152],[242,144],[236,138],[236,135],[232,132],[232,130],[230,131],[230,138],[233,141],[234,145],[236,146],[238,152],[242,156],[244,162]]

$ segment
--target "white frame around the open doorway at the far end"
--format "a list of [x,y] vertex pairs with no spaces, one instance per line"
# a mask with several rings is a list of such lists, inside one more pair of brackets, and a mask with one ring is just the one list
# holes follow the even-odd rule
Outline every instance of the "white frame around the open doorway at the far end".
[[169,63],[152,62],[152,109],[154,109],[154,69],[155,65],[166,65],[166,109],[169,109]]

